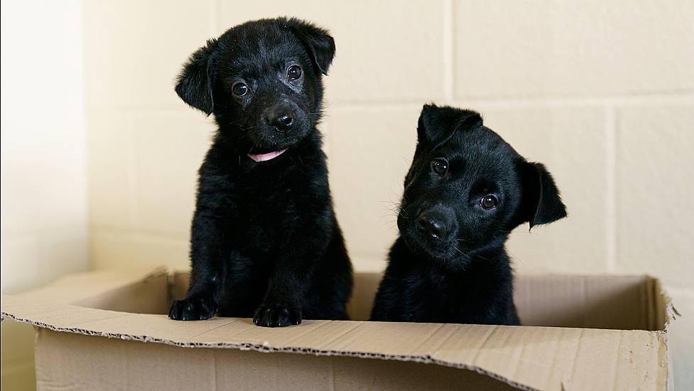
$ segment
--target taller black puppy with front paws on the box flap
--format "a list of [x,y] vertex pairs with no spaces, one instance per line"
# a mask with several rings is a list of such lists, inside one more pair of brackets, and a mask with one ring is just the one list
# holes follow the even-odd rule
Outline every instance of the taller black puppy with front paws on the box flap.
[[199,171],[190,289],[170,318],[347,317],[352,267],[316,129],[333,55],[327,31],[276,18],[230,28],[184,65],[176,92],[219,129]]

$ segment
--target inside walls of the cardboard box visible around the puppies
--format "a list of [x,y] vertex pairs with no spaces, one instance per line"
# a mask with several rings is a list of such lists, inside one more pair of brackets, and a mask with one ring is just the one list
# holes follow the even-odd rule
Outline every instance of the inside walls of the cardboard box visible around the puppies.
[[[357,273],[348,311],[352,320],[368,320],[378,273]],[[188,272],[170,275],[167,286],[136,284],[116,294],[91,299],[92,308],[168,314],[171,299],[188,289]],[[151,293],[146,293],[151,291]],[[515,301],[524,326],[661,331],[666,308],[658,281],[649,276],[521,275]]]

